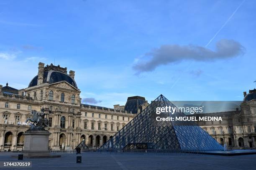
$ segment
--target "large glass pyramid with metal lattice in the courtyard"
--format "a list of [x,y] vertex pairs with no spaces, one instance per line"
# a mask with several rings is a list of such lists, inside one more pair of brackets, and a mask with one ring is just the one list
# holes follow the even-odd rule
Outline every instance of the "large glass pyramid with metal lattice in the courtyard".
[[223,147],[195,122],[157,121],[156,117],[186,117],[182,112],[156,114],[156,107],[166,106],[175,107],[160,95],[99,150],[223,150]]

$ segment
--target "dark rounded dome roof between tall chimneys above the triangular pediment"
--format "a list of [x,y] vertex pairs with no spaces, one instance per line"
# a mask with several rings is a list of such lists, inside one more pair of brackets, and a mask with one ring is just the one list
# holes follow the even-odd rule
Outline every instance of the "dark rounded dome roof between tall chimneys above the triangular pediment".
[[[37,78],[38,78],[38,76],[36,75],[31,80],[28,87],[36,86],[37,85]],[[51,83],[61,82],[61,81],[66,81],[70,85],[73,85],[74,87],[77,88],[77,83],[68,74],[65,74],[63,72],[56,71],[56,70],[48,70],[48,71],[44,72],[43,83],[50,83],[51,84]]]

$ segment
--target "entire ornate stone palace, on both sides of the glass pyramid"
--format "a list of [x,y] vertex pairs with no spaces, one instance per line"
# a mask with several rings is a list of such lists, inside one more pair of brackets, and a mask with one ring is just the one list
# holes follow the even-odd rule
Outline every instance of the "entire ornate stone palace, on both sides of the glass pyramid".
[[[89,148],[99,148],[141,112],[144,97],[128,97],[125,105],[114,108],[81,103],[74,71],[67,67],[38,64],[38,75],[28,88],[17,90],[0,85],[0,151],[22,150],[26,119],[31,110],[45,108],[51,133],[49,148],[75,148],[82,140]],[[195,116],[195,115],[194,115]],[[196,116],[221,116],[223,121],[197,122],[221,145],[232,149],[256,149],[256,89],[244,92],[241,109]]]

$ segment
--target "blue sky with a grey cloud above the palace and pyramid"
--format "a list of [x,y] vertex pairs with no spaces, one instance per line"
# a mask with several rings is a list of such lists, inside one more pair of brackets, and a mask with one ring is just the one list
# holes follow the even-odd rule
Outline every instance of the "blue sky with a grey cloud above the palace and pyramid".
[[256,86],[255,6],[253,0],[1,1],[0,84],[25,88],[38,62],[55,60],[75,71],[81,97],[95,105],[160,94],[243,100],[243,91]]

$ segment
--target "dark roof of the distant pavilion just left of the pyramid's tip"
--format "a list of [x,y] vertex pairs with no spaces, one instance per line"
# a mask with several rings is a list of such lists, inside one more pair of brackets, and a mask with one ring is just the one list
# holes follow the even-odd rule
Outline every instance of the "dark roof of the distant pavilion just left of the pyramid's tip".
[[137,113],[140,108],[140,105],[146,102],[144,97],[141,96],[133,96],[128,97],[127,102],[125,104],[125,110],[127,112]]

